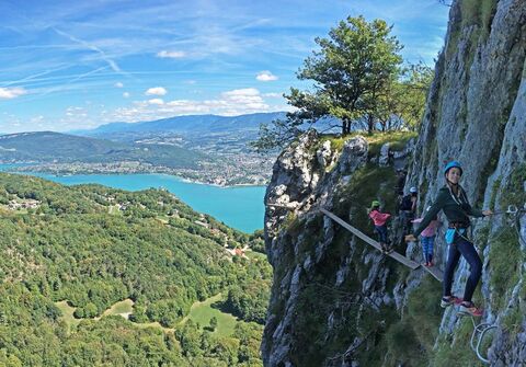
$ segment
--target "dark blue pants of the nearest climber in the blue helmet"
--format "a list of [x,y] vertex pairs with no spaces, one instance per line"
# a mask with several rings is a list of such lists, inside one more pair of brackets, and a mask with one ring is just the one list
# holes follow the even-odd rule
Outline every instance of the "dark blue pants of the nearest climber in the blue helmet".
[[471,301],[474,288],[477,288],[480,276],[482,275],[482,261],[480,260],[474,245],[458,234],[455,236],[453,244],[449,244],[447,264],[444,271],[444,296],[451,295],[453,274],[460,260],[460,255],[466,259],[470,267],[469,278],[466,283],[466,289],[464,290],[464,300]]

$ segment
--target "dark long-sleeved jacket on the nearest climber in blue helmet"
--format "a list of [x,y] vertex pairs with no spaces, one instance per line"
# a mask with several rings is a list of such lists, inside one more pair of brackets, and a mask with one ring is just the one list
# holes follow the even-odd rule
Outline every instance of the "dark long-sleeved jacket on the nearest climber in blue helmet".
[[425,214],[424,218],[420,222],[419,228],[416,228],[416,230],[413,232],[414,237],[419,237],[441,210],[444,210],[444,214],[449,222],[469,223],[469,216],[484,216],[481,210],[474,209],[471,207],[471,205],[469,205],[466,192],[460,185],[458,196],[451,192],[449,186],[445,185],[438,191],[435,202],[432,204],[430,210],[427,210]]

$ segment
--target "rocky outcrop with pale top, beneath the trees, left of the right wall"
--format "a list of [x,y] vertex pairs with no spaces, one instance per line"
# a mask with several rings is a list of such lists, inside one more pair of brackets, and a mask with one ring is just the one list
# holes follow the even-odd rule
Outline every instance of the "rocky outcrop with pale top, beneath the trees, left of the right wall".
[[[381,253],[358,243],[318,210],[327,208],[342,218],[362,222],[362,227],[365,219],[363,229],[373,236],[366,213],[369,197],[357,197],[356,211],[350,208],[354,202],[354,185],[359,190],[374,187],[375,197],[381,190],[395,197],[393,186],[382,186],[386,184],[384,174],[395,180],[396,169],[392,164],[381,169],[376,163],[380,156],[368,157],[368,142],[364,137],[350,138],[338,150],[330,140],[320,139],[311,130],[285,149],[274,164],[272,183],[265,195],[265,241],[274,267],[262,345],[265,365],[332,366],[352,360],[353,351],[358,346],[373,348],[374,339],[367,340],[357,331],[338,335],[346,323],[353,323],[356,330],[365,328],[347,312],[370,318],[370,310],[397,308],[397,296],[387,290],[392,269],[385,266]],[[357,172],[364,174],[363,181],[356,181]],[[367,182],[370,174],[378,174],[381,180]],[[309,317],[317,321],[305,324],[302,320]],[[317,322],[322,326],[317,326]],[[311,333],[312,326],[317,330]],[[375,321],[375,328],[385,328],[385,324]],[[345,343],[343,347],[328,348],[323,353],[317,348],[307,352],[305,344],[311,339],[322,345]],[[371,341],[373,344],[367,345]]]

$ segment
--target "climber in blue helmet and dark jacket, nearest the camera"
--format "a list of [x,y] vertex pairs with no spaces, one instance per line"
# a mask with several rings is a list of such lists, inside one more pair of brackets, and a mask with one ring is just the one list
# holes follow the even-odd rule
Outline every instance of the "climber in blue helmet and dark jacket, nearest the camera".
[[419,234],[431,223],[438,211],[444,210],[448,220],[446,242],[449,245],[447,264],[444,271],[443,298],[441,306],[446,308],[460,302],[460,299],[451,295],[453,275],[460,255],[466,259],[470,266],[469,278],[466,283],[464,299],[460,302],[459,314],[481,317],[482,310],[474,307],[471,301],[474,288],[479,283],[482,273],[482,262],[474,249],[473,243],[467,238],[467,229],[470,226],[469,216],[485,217],[493,214],[491,210],[478,210],[471,207],[462,186],[458,183],[462,175],[462,168],[459,162],[451,161],[444,169],[446,185],[438,191],[438,195],[425,214],[419,228],[413,234],[405,236],[405,241],[416,241]]

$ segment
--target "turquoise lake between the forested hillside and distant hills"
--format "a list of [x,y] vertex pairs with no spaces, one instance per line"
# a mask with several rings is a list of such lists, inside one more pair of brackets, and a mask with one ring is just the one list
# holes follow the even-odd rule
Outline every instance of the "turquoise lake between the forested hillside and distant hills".
[[[7,169],[7,164],[2,164]],[[0,168],[0,170],[2,169]],[[127,191],[164,187],[190,205],[227,226],[251,233],[263,228],[265,186],[218,187],[185,182],[167,174],[76,174],[55,176],[30,173],[65,185],[96,183]]]

